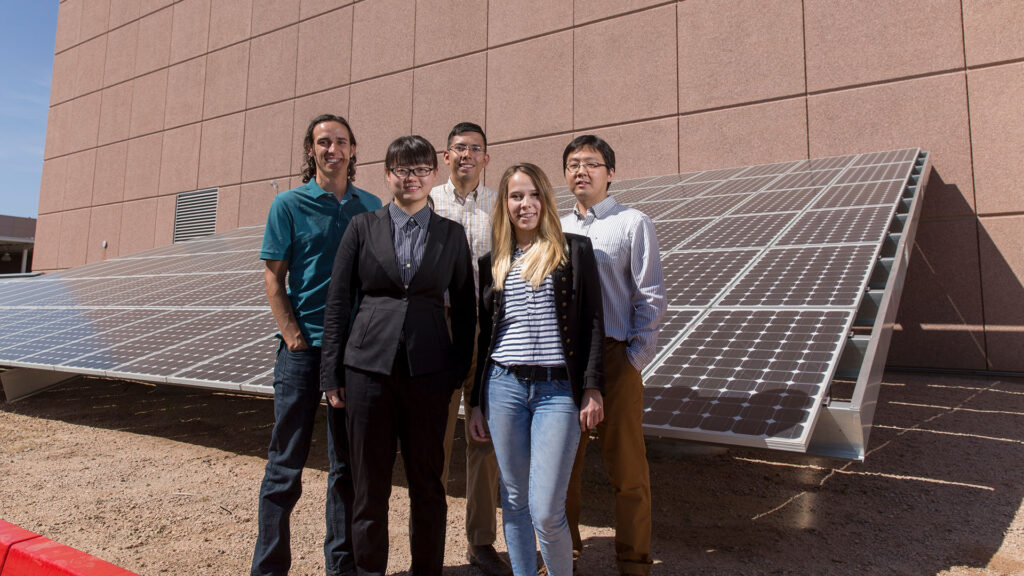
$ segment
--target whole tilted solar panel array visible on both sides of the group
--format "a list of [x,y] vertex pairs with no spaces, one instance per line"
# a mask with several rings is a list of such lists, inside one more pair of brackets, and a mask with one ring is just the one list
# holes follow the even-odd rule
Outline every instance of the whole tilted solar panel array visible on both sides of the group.
[[[652,218],[665,271],[669,311],[644,372],[647,434],[807,449],[921,156],[612,184]],[[571,210],[568,191],[556,194]],[[240,229],[0,281],[0,366],[272,394],[261,241],[261,227]]]

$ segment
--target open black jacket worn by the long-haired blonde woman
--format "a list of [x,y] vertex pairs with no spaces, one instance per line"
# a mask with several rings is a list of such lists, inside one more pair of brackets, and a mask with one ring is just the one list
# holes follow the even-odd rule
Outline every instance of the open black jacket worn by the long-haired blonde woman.
[[[555,308],[558,330],[562,334],[562,354],[572,384],[572,398],[577,406],[583,400],[585,388],[595,388],[604,394],[604,306],[601,303],[601,283],[597,275],[597,259],[590,239],[566,234],[568,260],[551,274],[555,285]],[[505,315],[505,291],[495,290],[490,276],[490,254],[479,260],[480,297],[478,317],[480,335],[477,337],[476,375],[471,406],[486,406],[483,402],[485,382],[490,368],[490,353],[495,349],[498,333],[496,324]]]

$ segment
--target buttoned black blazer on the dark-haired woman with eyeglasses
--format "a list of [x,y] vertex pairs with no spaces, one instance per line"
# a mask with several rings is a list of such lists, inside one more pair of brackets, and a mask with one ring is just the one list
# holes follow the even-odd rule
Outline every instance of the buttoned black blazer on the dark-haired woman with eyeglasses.
[[324,313],[322,389],[344,387],[345,366],[390,374],[402,335],[411,375],[445,372],[442,377],[453,378],[453,387],[466,377],[476,329],[466,233],[458,222],[431,212],[425,242],[407,290],[398,275],[388,205],[349,222],[334,259]]

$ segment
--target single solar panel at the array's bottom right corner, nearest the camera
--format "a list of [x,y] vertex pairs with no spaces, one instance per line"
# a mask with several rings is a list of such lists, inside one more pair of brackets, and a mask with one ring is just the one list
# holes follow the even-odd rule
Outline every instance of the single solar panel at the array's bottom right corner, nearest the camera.
[[[850,311],[712,311],[654,370],[663,385],[646,388],[645,422],[801,438],[851,318]],[[736,354],[726,357],[729,352]],[[797,378],[807,375],[816,385],[798,388]],[[671,389],[685,396],[670,395]]]

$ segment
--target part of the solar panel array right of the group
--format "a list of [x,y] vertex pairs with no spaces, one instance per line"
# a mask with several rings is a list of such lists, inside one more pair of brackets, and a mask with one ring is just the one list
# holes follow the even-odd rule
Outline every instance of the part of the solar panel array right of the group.
[[901,150],[613,182],[653,220],[665,273],[646,431],[806,450],[918,163]]

